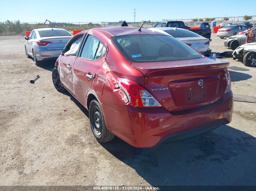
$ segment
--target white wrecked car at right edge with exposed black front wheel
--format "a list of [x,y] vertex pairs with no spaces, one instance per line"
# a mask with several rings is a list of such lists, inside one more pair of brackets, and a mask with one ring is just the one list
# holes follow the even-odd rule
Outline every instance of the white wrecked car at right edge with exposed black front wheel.
[[233,52],[233,59],[238,59],[245,66],[256,67],[256,43],[238,46]]

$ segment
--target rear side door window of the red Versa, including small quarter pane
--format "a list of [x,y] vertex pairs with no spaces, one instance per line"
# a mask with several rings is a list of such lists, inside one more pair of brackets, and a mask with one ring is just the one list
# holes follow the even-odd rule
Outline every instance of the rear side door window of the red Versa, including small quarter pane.
[[100,40],[95,36],[88,35],[80,57],[88,60],[97,60],[102,57],[105,52],[106,48]]

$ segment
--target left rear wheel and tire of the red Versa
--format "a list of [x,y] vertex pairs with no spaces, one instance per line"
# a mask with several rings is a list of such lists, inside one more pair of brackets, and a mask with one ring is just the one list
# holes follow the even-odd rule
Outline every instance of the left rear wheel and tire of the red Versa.
[[105,124],[105,119],[97,99],[91,100],[89,106],[89,119],[91,125],[91,131],[96,140],[100,143],[111,141],[115,135],[108,131]]

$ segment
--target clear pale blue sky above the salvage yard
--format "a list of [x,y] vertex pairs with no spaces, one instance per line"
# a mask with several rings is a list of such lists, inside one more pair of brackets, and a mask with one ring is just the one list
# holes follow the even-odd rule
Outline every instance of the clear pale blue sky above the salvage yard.
[[[250,4],[250,6],[249,6]],[[1,0],[0,21],[115,22],[255,15],[256,1],[192,0]]]

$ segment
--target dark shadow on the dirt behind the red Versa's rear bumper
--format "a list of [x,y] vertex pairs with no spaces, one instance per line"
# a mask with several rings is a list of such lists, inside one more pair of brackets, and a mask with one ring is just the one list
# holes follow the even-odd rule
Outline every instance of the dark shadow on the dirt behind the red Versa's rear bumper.
[[179,142],[167,139],[137,154],[117,137],[101,145],[152,186],[256,184],[256,138],[228,125]]

